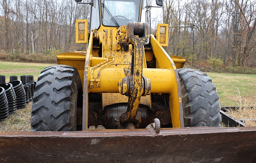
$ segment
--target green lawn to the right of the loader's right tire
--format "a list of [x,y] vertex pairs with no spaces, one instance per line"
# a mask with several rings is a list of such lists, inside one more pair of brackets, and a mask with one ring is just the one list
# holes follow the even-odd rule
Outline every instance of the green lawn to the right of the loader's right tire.
[[221,106],[256,106],[256,75],[207,73]]

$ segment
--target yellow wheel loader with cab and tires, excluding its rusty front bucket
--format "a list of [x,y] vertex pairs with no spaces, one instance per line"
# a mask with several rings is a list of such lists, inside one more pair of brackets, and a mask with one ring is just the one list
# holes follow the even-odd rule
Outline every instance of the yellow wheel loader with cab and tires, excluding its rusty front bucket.
[[150,34],[140,22],[142,2],[91,2],[89,30],[87,20],[76,21],[76,42],[87,49],[58,54],[58,65],[38,78],[32,131],[220,127],[211,79],[182,69],[186,59],[164,51],[168,26],[158,24],[156,36]]

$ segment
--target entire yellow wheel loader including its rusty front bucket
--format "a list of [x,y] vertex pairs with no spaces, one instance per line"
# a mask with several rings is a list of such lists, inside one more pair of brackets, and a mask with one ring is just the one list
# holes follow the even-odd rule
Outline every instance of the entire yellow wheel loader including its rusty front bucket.
[[76,20],[86,48],[58,54],[41,72],[31,132],[0,134],[3,161],[256,162],[256,128],[221,127],[210,77],[166,53],[168,25],[153,35],[141,22],[154,6],[75,1],[91,5],[89,25]]

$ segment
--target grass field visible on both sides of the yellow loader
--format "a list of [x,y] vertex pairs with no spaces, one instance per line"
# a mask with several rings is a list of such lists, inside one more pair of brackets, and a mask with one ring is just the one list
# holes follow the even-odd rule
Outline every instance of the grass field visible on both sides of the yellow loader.
[[[37,81],[40,72],[52,64],[15,63],[0,61],[0,75],[34,75]],[[256,106],[256,75],[207,73],[212,78],[220,96],[221,106]],[[29,131],[31,102],[26,108],[17,110],[10,117],[0,122],[0,131]]]

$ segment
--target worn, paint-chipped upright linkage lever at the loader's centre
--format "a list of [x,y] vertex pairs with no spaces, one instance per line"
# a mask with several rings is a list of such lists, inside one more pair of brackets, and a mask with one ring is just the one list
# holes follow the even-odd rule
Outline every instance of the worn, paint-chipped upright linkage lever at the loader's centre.
[[[134,31],[137,31],[135,34]],[[128,83],[130,85],[127,93],[128,96],[128,117],[126,114],[122,115],[122,120],[132,120],[136,121],[136,116],[138,113],[138,107],[140,104],[140,97],[143,96],[144,92],[150,93],[151,87],[146,87],[146,85],[150,85],[147,82],[149,80],[143,80],[143,55],[144,55],[144,43],[148,39],[148,24],[144,23],[127,23],[127,41],[133,45],[133,58],[131,65],[131,74],[127,75],[125,79],[128,79]],[[140,36],[137,36],[140,35]],[[144,81],[144,85],[142,83]],[[148,91],[146,91],[148,90]],[[146,93],[147,94],[147,93]]]

